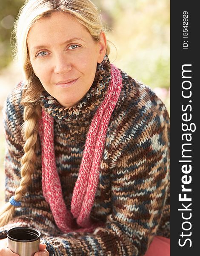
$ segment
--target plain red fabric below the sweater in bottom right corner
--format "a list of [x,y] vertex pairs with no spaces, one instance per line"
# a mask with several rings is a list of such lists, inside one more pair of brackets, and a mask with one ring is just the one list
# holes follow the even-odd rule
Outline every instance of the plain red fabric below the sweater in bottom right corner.
[[155,236],[144,256],[170,256],[170,239]]

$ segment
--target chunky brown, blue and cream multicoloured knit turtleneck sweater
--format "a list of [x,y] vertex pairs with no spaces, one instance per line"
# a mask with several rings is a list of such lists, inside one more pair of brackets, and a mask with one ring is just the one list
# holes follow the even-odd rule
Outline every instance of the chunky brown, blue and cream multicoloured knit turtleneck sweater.
[[[140,256],[155,235],[170,237],[169,115],[154,92],[120,72],[123,87],[109,122],[91,210],[91,218],[104,225],[92,233],[58,229],[43,197],[38,138],[32,183],[13,220],[0,227],[0,239],[11,227],[29,226],[41,231],[50,256]],[[110,79],[109,59],[104,58],[89,92],[73,107],[63,108],[46,92],[41,96],[41,107],[54,117],[57,172],[69,210],[91,119]],[[20,181],[23,86],[18,84],[6,102],[6,202]]]

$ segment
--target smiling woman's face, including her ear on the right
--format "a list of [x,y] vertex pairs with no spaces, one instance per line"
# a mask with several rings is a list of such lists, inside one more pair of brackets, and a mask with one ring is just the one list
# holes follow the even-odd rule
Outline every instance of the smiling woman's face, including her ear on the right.
[[79,102],[91,87],[106,37],[95,42],[71,15],[54,12],[38,20],[27,38],[31,65],[44,89],[64,107]]

